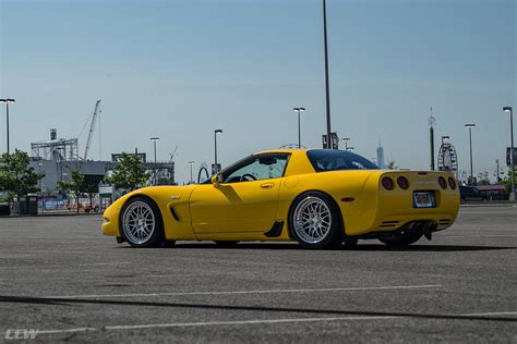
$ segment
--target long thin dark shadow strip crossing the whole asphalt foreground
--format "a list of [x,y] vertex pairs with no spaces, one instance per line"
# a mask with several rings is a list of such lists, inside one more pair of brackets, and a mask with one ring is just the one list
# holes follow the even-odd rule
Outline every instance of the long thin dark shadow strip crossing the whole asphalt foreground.
[[29,296],[0,296],[0,304],[28,304],[64,306],[74,305],[95,305],[95,306],[139,306],[139,307],[158,307],[158,308],[182,308],[201,310],[229,310],[229,311],[260,311],[260,312],[284,312],[284,314],[309,314],[309,315],[339,315],[339,316],[363,316],[363,317],[404,317],[422,318],[438,320],[474,320],[474,321],[503,321],[517,322],[515,317],[505,316],[483,316],[483,315],[445,315],[445,314],[422,314],[404,311],[366,311],[366,310],[346,310],[346,309],[321,309],[321,308],[299,308],[299,307],[273,307],[273,306],[241,306],[241,305],[214,305],[203,303],[167,303],[144,302],[144,300],[123,300],[123,299],[94,299],[94,298],[65,298],[65,297],[29,297]]

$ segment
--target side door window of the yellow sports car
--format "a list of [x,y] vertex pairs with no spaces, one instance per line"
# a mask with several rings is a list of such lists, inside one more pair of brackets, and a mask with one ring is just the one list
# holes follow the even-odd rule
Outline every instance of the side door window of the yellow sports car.
[[225,177],[225,183],[240,183],[281,177],[288,155],[262,155],[250,159]]

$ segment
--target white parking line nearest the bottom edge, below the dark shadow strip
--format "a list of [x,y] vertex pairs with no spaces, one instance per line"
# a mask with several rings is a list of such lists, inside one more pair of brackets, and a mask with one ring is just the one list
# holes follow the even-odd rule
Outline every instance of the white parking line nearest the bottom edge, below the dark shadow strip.
[[100,330],[139,330],[157,328],[187,328],[187,327],[211,327],[211,325],[235,325],[235,324],[267,324],[286,322],[323,322],[323,321],[350,321],[350,320],[387,320],[400,317],[392,316],[372,316],[372,317],[332,317],[332,318],[285,318],[285,319],[256,319],[256,320],[236,320],[236,321],[206,321],[206,322],[170,322],[170,323],[146,323],[130,325],[108,325],[104,328],[77,328],[64,330],[43,330],[38,334],[55,334],[68,332],[92,332]]

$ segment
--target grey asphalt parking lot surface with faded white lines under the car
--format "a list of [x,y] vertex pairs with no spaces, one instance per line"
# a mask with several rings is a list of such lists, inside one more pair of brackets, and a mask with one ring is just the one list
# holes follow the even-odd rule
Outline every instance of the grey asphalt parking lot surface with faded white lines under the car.
[[517,207],[376,241],[133,249],[100,216],[0,219],[0,342],[517,343]]

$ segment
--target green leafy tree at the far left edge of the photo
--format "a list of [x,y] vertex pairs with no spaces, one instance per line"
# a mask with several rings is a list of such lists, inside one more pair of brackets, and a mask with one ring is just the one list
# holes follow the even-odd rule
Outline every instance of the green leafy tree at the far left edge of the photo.
[[4,152],[2,162],[0,164],[0,191],[7,192],[10,199],[13,196],[20,199],[20,197],[39,191],[37,185],[45,174],[35,172],[25,151],[15,149],[11,155]]

